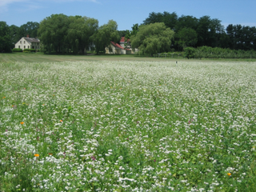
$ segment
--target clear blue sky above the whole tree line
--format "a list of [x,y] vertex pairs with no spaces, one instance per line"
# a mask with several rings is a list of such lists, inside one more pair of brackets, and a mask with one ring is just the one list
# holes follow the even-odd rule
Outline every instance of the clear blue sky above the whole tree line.
[[21,26],[41,22],[51,14],[81,15],[98,19],[99,26],[113,19],[118,30],[131,30],[151,12],[176,12],[178,16],[218,18],[223,26],[256,26],[256,0],[0,0],[0,21]]

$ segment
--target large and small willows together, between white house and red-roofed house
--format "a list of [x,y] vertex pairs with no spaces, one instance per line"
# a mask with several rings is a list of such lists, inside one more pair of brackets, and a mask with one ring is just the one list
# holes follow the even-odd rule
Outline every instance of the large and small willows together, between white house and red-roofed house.
[[110,20],[98,26],[98,20],[82,16],[52,14],[40,22],[38,36],[48,53],[86,53],[95,50],[96,54],[105,51],[110,42],[120,40],[118,24]]

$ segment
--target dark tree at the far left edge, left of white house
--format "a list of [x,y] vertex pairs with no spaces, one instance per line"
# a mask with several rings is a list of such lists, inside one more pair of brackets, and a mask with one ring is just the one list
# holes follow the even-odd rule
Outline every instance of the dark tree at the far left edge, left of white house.
[[0,22],[0,53],[11,52],[10,28],[6,22]]

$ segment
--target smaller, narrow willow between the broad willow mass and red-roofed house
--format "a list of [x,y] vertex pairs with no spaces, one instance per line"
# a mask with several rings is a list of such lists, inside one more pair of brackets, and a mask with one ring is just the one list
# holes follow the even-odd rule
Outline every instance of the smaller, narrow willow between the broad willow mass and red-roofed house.
[[100,26],[91,39],[94,42],[96,54],[99,54],[100,51],[105,51],[105,48],[110,46],[110,42],[119,42],[120,36],[117,22],[110,20],[107,24]]

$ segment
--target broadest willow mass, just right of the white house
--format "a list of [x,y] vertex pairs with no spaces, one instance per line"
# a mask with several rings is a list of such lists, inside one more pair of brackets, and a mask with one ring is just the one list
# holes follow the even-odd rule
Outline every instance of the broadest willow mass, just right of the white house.
[[97,30],[97,19],[52,14],[40,23],[38,36],[49,53],[84,53],[92,45],[91,36]]

